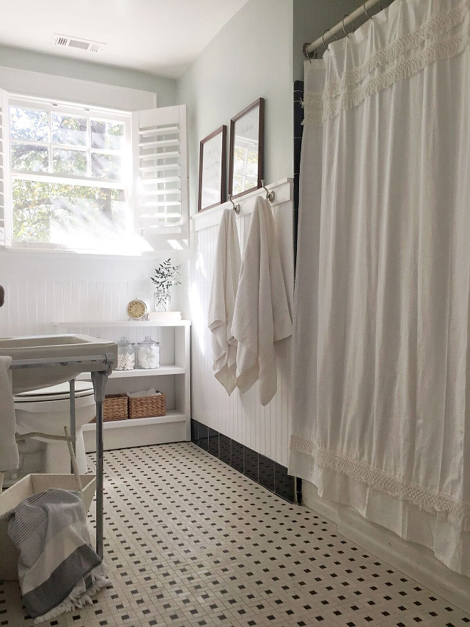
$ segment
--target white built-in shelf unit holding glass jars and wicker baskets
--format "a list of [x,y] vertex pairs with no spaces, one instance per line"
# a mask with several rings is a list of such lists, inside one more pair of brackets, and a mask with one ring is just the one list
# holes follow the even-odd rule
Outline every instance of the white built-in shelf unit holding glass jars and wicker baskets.
[[[162,366],[155,369],[113,371],[107,394],[157,388],[165,395],[167,413],[152,418],[110,420],[103,425],[105,450],[182,442],[191,439],[190,327],[189,320],[115,320],[56,322],[57,333],[78,333],[118,341],[142,341],[145,335],[160,341]],[[156,338],[154,336],[157,336]],[[88,373],[78,376],[90,380]],[[95,451],[95,424],[83,427],[85,450]]]

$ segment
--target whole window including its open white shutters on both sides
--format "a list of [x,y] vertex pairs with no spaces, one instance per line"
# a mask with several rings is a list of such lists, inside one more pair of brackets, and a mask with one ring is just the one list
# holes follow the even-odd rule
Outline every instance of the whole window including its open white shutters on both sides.
[[0,246],[181,248],[187,207],[184,105],[127,113],[0,90]]

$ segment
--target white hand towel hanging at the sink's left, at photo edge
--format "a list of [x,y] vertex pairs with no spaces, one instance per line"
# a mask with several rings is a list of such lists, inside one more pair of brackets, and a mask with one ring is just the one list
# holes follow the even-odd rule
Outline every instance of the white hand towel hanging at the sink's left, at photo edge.
[[0,471],[18,470],[16,420],[11,391],[11,357],[0,357]]

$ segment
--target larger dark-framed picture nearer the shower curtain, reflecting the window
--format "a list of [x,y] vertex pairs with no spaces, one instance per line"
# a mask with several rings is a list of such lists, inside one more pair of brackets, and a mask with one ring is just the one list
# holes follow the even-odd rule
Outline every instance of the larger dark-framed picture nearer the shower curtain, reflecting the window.
[[241,196],[261,187],[263,178],[264,98],[230,122],[229,194]]

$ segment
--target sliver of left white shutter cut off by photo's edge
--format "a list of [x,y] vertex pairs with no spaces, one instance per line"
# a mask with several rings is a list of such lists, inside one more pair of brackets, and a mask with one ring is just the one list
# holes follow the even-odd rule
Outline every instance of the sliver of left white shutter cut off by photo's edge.
[[8,93],[0,90],[0,246],[11,246]]

